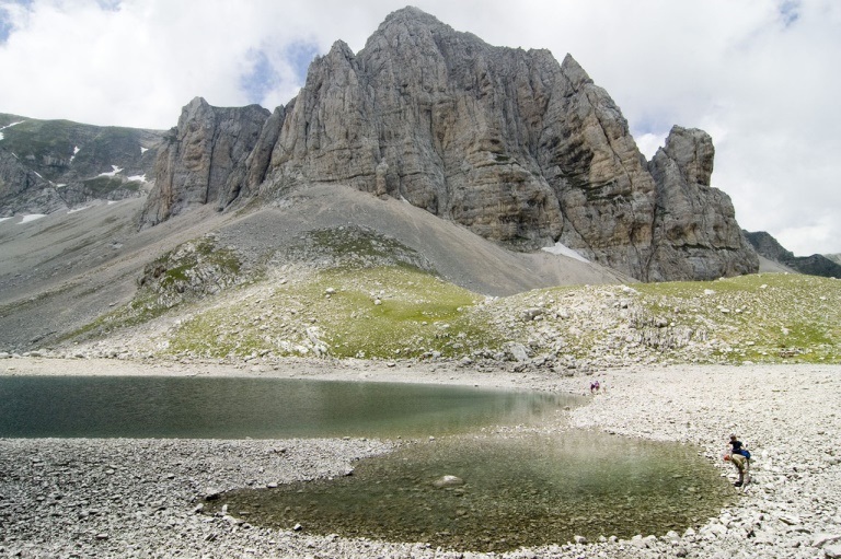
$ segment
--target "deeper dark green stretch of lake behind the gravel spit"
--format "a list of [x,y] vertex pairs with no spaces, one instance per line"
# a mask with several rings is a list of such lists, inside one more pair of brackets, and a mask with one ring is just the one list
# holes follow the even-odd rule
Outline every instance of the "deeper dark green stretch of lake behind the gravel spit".
[[428,436],[541,421],[580,398],[404,383],[0,377],[0,436]]

